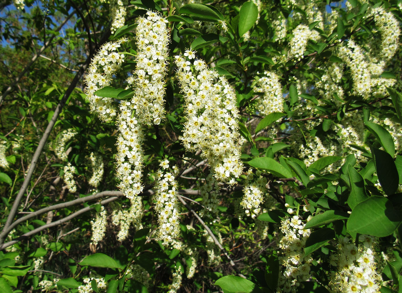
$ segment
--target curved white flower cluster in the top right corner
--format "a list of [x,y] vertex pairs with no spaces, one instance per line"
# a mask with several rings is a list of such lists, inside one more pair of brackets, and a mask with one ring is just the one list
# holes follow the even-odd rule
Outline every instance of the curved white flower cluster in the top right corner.
[[399,36],[401,34],[398,20],[392,12],[386,12],[384,7],[373,8],[375,25],[381,32],[381,57],[391,59],[398,49]]

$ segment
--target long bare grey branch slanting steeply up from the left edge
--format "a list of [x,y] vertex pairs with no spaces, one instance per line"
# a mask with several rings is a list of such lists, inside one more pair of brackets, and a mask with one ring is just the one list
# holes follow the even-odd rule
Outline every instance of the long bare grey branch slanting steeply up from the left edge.
[[[109,35],[110,35],[110,30],[108,30],[107,33],[105,33],[103,35],[102,40],[100,41],[100,44],[103,44],[105,41],[107,41]],[[35,170],[36,164],[39,160],[39,156],[41,155],[41,152],[42,152],[43,148],[45,147],[47,138],[49,137],[50,132],[53,129],[53,126],[55,125],[55,123],[57,121],[57,117],[59,117],[59,114],[61,113],[64,104],[66,104],[67,99],[70,97],[70,94],[73,92],[77,83],[79,82],[82,75],[84,74],[86,67],[90,64],[91,57],[92,57],[92,55],[88,56],[85,63],[81,66],[80,70],[77,72],[76,76],[72,80],[70,86],[67,88],[66,93],[64,94],[63,98],[60,100],[59,104],[57,104],[57,107],[54,110],[53,116],[52,116],[51,120],[49,121],[49,124],[47,125],[41,140],[39,141],[39,144],[38,144],[37,149],[35,150],[35,153],[33,154],[32,161],[29,166],[29,170],[27,172],[27,175],[25,176],[21,189],[18,192],[16,199],[11,207],[10,214],[8,215],[6,223],[4,224],[3,231],[6,230],[11,225],[11,223],[17,213],[18,206],[21,203],[21,199],[22,199],[25,191],[28,188],[29,182],[31,181],[33,171]],[[4,236],[3,232],[0,235],[1,235],[0,236],[0,244],[2,244],[4,242],[5,236]]]

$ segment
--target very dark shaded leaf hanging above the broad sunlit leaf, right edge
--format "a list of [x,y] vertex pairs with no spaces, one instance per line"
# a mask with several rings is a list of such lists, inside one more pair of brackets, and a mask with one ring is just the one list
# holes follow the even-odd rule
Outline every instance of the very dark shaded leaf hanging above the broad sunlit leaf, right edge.
[[374,156],[375,170],[379,184],[387,195],[392,195],[398,189],[399,174],[395,162],[389,153],[371,148]]

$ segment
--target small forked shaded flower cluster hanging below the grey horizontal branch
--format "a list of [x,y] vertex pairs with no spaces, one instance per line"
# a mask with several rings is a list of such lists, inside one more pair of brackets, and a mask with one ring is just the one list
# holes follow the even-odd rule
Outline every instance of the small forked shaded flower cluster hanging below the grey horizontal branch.
[[123,241],[128,237],[129,228],[134,226],[135,230],[142,229],[142,216],[144,215],[144,209],[142,206],[142,197],[134,197],[130,199],[130,209],[114,211],[112,214],[112,223],[120,226],[120,231],[117,234],[117,240]]

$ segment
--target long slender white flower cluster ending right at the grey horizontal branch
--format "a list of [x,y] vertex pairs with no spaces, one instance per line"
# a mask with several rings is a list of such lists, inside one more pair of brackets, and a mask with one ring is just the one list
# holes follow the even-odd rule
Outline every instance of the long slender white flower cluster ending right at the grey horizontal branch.
[[121,101],[120,113],[117,117],[119,136],[117,137],[116,176],[123,194],[132,199],[142,192],[141,176],[144,152],[142,126],[135,118],[135,110],[131,102]]

